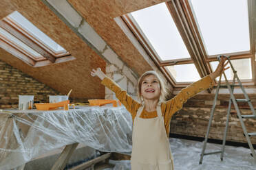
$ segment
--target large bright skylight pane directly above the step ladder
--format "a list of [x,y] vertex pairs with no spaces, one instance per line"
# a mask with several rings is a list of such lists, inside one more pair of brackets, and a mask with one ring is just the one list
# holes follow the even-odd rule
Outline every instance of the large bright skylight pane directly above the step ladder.
[[190,0],[209,56],[250,51],[246,0]]

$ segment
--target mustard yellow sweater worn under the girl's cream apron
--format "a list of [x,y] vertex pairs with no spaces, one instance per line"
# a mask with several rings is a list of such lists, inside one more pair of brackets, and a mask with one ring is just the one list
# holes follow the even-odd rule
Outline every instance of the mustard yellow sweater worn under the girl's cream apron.
[[[125,108],[127,108],[127,110],[131,113],[131,117],[134,122],[134,118],[136,117],[138,108],[140,108],[141,104],[138,103],[138,101],[132,99],[125,90],[120,88],[120,86],[113,82],[109,77],[105,77],[101,84],[107,86],[110,90],[116,93],[116,98],[118,98],[121,101],[121,103],[125,106]],[[182,88],[180,93],[178,93],[178,95],[176,95],[172,99],[162,102],[162,117],[164,117],[164,126],[168,137],[170,132],[170,121],[173,114],[180,110],[183,104],[186,103],[186,101],[189,98],[193,97],[197,93],[200,93],[202,90],[211,88],[213,85],[213,80],[209,75],[207,75],[206,77],[203,77],[201,80],[193,82],[186,88]],[[147,112],[147,110],[145,109],[140,114],[140,117],[145,119],[150,119],[157,116],[158,114],[156,111]]]

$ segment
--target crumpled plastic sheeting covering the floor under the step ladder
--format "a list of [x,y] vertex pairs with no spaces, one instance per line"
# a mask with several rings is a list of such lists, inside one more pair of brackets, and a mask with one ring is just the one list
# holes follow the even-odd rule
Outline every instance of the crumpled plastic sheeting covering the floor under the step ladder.
[[[178,138],[169,139],[171,151],[174,158],[175,170],[255,170],[256,162],[250,156],[250,149],[244,147],[226,146],[223,161],[220,154],[204,156],[202,165],[199,165],[202,142],[188,141]],[[207,152],[220,151],[222,145],[207,143]],[[104,170],[129,170],[130,160],[109,160],[109,163],[116,165],[114,169]]]

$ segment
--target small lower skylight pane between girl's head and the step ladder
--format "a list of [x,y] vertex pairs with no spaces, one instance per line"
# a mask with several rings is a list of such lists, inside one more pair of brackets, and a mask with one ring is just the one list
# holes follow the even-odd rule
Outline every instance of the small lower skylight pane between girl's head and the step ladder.
[[200,75],[195,68],[195,64],[180,64],[166,66],[176,82],[195,82],[200,80]]

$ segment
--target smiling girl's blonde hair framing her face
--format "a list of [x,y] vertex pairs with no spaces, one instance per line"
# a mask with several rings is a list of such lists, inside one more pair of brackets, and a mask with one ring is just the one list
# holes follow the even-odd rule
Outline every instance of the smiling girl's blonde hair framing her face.
[[160,78],[160,75],[158,75],[158,73],[156,73],[156,71],[147,71],[145,73],[143,73],[139,80],[138,80],[138,99],[140,101],[142,101],[142,96],[141,96],[141,84],[142,81],[145,79],[145,77],[147,77],[148,75],[155,75],[156,78],[158,79],[159,83],[160,83],[160,101],[166,101],[166,96],[167,96],[167,88],[164,84],[164,81]]

